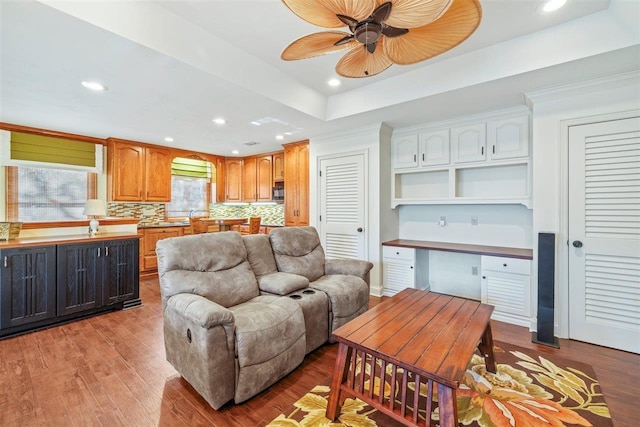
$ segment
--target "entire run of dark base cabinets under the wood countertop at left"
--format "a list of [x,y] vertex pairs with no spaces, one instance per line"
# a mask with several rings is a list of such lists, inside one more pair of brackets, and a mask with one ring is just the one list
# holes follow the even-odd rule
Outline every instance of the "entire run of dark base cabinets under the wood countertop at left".
[[0,337],[141,304],[138,239],[0,249]]

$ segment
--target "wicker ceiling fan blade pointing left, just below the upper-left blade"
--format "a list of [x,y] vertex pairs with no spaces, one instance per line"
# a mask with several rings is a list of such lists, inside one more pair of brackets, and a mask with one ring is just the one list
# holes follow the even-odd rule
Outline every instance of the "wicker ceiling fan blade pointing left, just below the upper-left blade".
[[[323,31],[321,33],[309,34],[289,44],[289,46],[284,48],[280,57],[285,61],[307,59],[327,53],[353,49],[355,46],[360,45],[355,40],[344,42],[346,37],[352,37],[352,35],[343,31]],[[343,43],[336,45],[338,42]]]

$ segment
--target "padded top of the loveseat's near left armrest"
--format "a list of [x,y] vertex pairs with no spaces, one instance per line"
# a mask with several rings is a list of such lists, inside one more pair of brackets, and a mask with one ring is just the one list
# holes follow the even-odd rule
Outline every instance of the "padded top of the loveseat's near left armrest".
[[231,310],[215,302],[195,294],[177,294],[167,301],[167,309],[200,325],[205,329],[214,326],[233,326],[234,318]]

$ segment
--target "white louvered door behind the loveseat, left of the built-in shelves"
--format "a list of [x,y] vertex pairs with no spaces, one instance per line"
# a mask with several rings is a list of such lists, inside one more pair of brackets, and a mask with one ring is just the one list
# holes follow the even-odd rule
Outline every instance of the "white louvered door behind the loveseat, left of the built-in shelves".
[[320,160],[320,238],[327,258],[366,260],[364,154]]

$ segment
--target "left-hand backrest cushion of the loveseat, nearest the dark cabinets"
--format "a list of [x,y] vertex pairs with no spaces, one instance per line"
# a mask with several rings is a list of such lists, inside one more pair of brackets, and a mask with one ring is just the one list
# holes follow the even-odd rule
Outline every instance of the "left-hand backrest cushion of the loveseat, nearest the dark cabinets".
[[158,241],[163,305],[173,295],[201,295],[231,307],[260,294],[240,233],[206,233]]

